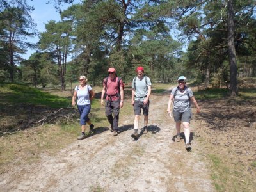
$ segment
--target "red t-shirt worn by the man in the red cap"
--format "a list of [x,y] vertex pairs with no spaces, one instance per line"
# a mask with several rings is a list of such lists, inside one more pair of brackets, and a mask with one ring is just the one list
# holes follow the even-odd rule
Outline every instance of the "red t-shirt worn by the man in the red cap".
[[[105,86],[105,81],[106,81],[106,79],[104,79],[104,81],[103,81],[103,86]],[[116,94],[119,92],[117,82],[118,82],[118,77],[115,77],[114,79],[111,79],[111,77],[108,77],[106,100],[110,99],[110,97],[108,95],[113,95],[113,96],[111,96],[112,100],[118,100],[119,99],[118,97],[116,97]],[[120,84],[120,86],[124,87],[124,83],[123,83],[122,79],[120,79],[119,84]]]

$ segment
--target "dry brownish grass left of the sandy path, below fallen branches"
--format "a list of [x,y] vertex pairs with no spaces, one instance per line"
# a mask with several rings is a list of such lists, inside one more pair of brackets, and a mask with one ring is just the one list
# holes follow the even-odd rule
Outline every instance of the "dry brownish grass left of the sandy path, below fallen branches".
[[[76,128],[79,130],[79,127]],[[45,125],[0,138],[0,174],[8,166],[35,163],[40,154],[54,155],[60,148],[76,140],[75,127],[72,129],[56,125]]]

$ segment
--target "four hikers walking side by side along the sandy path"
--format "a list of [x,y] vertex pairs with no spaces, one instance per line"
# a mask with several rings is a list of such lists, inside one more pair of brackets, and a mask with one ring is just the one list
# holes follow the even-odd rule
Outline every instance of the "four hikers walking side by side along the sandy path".
[[[118,120],[120,108],[124,106],[124,82],[118,76],[116,76],[115,68],[108,69],[109,76],[103,79],[103,88],[101,93],[101,105],[105,106],[105,114],[110,124],[110,129],[113,132],[113,136],[118,135]],[[141,109],[144,115],[144,127],[143,134],[148,132],[148,111],[150,104],[151,86],[152,83],[150,78],[145,76],[144,68],[136,68],[137,76],[132,80],[132,106],[134,108],[134,132],[131,137],[134,140],[138,140],[138,127],[141,116]],[[77,98],[77,109],[80,113],[80,125],[81,135],[77,138],[83,140],[86,138],[85,130],[86,123],[90,127],[90,131],[93,131],[94,125],[88,118],[91,109],[91,100],[95,97],[95,93],[92,87],[87,84],[88,79],[85,76],[79,77],[79,86],[74,89],[74,95],[72,97],[72,106],[76,105]],[[172,89],[170,93],[170,99],[168,102],[167,113],[175,120],[175,126],[177,135],[175,136],[176,141],[180,142],[180,128],[181,123],[184,126],[185,135],[185,148],[191,150],[190,143],[190,129],[189,123],[191,120],[191,102],[196,106],[196,112],[200,112],[200,108],[193,96],[193,92],[186,86],[186,77],[180,76],[177,79],[178,86]],[[104,100],[105,97],[105,100]],[[173,104],[173,109],[172,109]]]

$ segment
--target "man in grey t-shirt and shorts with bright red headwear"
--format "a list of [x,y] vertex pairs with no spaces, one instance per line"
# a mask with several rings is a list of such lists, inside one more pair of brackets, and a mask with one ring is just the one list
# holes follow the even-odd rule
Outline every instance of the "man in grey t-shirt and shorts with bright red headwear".
[[132,138],[138,139],[138,125],[140,120],[141,109],[143,109],[144,115],[144,128],[143,133],[148,132],[148,109],[149,109],[149,97],[151,94],[151,81],[150,78],[144,76],[144,68],[136,68],[137,76],[132,81],[132,105],[134,109],[134,133]]

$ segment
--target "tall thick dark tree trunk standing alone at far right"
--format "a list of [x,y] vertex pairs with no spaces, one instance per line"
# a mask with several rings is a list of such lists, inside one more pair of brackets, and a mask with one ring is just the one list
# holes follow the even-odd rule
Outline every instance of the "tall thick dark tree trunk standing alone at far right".
[[228,1],[228,57],[230,65],[230,96],[238,96],[236,49],[234,43],[235,22],[233,0]]

